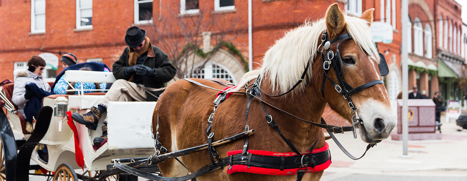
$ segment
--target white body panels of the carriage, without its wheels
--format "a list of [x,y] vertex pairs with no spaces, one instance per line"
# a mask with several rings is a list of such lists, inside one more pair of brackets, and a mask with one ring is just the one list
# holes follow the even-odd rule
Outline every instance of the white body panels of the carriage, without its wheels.
[[[95,82],[112,83],[115,81],[112,72],[97,72],[83,70],[67,70],[66,79],[69,82]],[[43,106],[54,107],[58,96],[52,95],[42,100]],[[85,113],[96,106],[104,95],[70,95],[68,109],[72,113]],[[92,131],[75,122],[78,130],[79,145],[85,160],[85,168],[88,170],[106,170],[106,166],[112,164],[111,159],[148,157],[154,153],[154,139],[152,138],[152,114],[156,102],[108,102],[107,113],[99,120],[98,129]],[[92,142],[95,137],[102,134],[100,127],[107,118],[108,140],[99,149],[94,150]],[[59,118],[52,116],[49,130],[40,143],[47,145],[49,154],[48,163],[38,159],[36,153],[31,159],[41,167],[55,171],[62,163],[68,163],[74,169],[78,169],[75,160],[75,140],[73,131],[63,121],[62,132],[59,132]],[[14,124],[16,126],[16,124]],[[20,127],[21,129],[21,127]],[[22,136],[22,135],[21,135]],[[17,138],[21,139],[21,138]]]

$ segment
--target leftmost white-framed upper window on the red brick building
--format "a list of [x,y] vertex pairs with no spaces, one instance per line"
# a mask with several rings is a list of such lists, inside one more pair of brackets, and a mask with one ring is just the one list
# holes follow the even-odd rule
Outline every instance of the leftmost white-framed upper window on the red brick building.
[[45,0],[31,0],[31,33],[45,33]]

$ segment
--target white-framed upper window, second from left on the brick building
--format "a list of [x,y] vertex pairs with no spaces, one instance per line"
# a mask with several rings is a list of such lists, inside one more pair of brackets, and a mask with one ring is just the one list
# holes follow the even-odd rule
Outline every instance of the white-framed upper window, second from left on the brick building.
[[76,28],[92,28],[92,0],[76,0]]

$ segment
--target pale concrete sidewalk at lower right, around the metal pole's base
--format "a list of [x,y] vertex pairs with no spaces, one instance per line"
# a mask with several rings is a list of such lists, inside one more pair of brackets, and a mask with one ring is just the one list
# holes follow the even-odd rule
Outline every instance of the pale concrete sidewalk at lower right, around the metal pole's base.
[[[327,140],[332,164],[325,170],[321,181],[330,181],[351,174],[387,174],[419,176],[467,176],[467,130],[457,126],[455,120],[446,123],[441,118],[443,139],[409,141],[409,155],[402,155],[402,141],[388,139],[370,148],[360,160],[352,160],[334,143]],[[355,157],[360,157],[367,143],[354,139],[352,132],[336,134],[337,139]]]

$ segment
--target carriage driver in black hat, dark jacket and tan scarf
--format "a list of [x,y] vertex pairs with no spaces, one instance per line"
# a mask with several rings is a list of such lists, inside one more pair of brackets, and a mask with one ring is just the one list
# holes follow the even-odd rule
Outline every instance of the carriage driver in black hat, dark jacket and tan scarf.
[[[157,101],[163,91],[160,88],[172,80],[177,72],[167,54],[150,43],[144,29],[128,28],[125,42],[128,47],[113,63],[113,76],[118,80],[112,84],[102,102],[86,114],[74,113],[71,116],[89,129],[97,129],[99,118],[107,111],[108,101]],[[94,139],[95,146],[107,138],[107,126],[104,124],[103,135]]]

